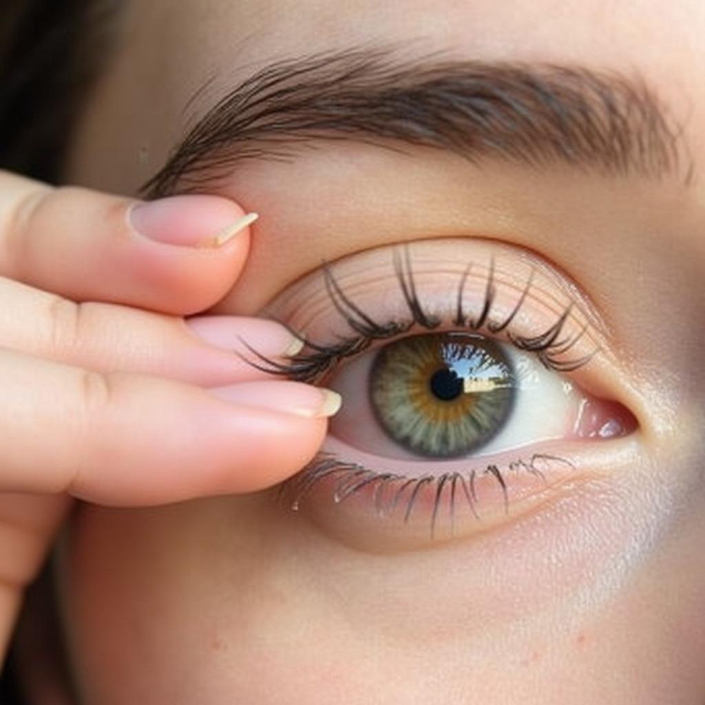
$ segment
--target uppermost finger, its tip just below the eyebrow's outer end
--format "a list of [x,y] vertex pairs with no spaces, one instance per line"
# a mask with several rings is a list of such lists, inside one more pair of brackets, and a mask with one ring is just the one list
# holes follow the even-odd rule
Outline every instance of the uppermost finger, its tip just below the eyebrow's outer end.
[[238,277],[250,246],[244,217],[216,196],[137,204],[0,171],[0,276],[79,301],[191,314]]

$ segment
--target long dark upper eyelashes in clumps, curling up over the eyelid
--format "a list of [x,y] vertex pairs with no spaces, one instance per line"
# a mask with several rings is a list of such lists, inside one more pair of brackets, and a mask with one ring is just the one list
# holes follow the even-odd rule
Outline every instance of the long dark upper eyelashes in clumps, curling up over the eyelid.
[[[409,245],[405,243],[401,246],[401,253],[399,250],[399,247],[395,247],[393,250],[394,274],[399,281],[402,295],[409,309],[411,316],[410,319],[405,321],[389,321],[384,325],[379,324],[379,322],[375,321],[369,314],[364,312],[357,304],[355,304],[355,302],[353,302],[353,300],[348,297],[348,295],[345,294],[340,283],[338,283],[335,276],[333,276],[333,271],[330,264],[324,263],[322,269],[326,293],[329,295],[333,307],[336,309],[338,314],[341,315],[348,326],[350,326],[350,329],[355,331],[357,335],[347,337],[338,336],[338,341],[336,343],[320,345],[303,338],[299,333],[293,331],[290,326],[287,326],[282,321],[279,321],[290,331],[290,333],[292,333],[293,336],[299,338],[299,340],[304,343],[304,348],[302,351],[291,357],[289,360],[286,360],[286,362],[281,362],[279,360],[273,360],[271,357],[267,357],[266,355],[262,355],[255,350],[255,348],[248,345],[246,341],[241,339],[243,345],[245,345],[247,350],[249,350],[252,355],[255,355],[257,361],[247,360],[246,357],[243,357],[243,359],[251,364],[252,367],[262,370],[262,372],[286,376],[288,379],[294,381],[315,383],[331,372],[332,369],[335,369],[341,360],[345,360],[348,357],[354,357],[355,355],[362,353],[364,350],[369,348],[369,345],[371,345],[373,341],[385,340],[387,338],[393,338],[403,333],[407,333],[407,331],[412,329],[415,325],[421,326],[427,330],[434,330],[438,328],[442,322],[441,319],[437,316],[428,314],[424,310],[421,300],[419,300],[419,295],[417,293],[414,280]],[[595,348],[590,353],[587,353],[587,355],[583,355],[582,357],[568,360],[562,359],[563,355],[565,355],[568,350],[580,341],[588,329],[588,325],[586,323],[580,331],[575,333],[574,336],[570,338],[561,338],[560,334],[563,332],[565,323],[568,321],[568,317],[574,307],[573,302],[570,302],[565,307],[563,313],[560,314],[555,323],[549,326],[544,333],[540,333],[536,336],[522,336],[517,333],[513,333],[508,329],[508,326],[515,319],[524,305],[529,290],[533,285],[535,276],[535,270],[533,268],[529,273],[527,282],[522,289],[522,293],[517,299],[515,307],[512,311],[505,319],[503,319],[503,321],[492,321],[491,311],[496,297],[494,257],[491,257],[490,259],[489,274],[487,276],[485,286],[482,311],[477,319],[472,319],[472,317],[466,314],[462,307],[465,283],[467,281],[467,277],[470,275],[471,268],[472,263],[468,264],[465,268],[458,285],[455,315],[453,317],[453,324],[455,324],[455,326],[467,326],[467,328],[472,331],[481,331],[486,328],[490,333],[501,333],[506,330],[505,335],[510,343],[515,345],[515,347],[520,350],[533,353],[538,357],[539,362],[541,362],[544,367],[547,369],[553,369],[556,372],[573,372],[575,369],[578,369],[589,362],[589,360],[591,360],[591,358],[594,357],[594,355],[599,351],[599,348]]]

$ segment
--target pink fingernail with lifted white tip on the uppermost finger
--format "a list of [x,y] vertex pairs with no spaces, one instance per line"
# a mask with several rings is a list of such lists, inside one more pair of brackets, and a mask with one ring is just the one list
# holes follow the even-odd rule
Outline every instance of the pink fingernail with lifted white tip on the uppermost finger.
[[243,216],[233,201],[220,196],[171,196],[133,204],[128,223],[135,233],[167,245],[222,247],[257,220]]

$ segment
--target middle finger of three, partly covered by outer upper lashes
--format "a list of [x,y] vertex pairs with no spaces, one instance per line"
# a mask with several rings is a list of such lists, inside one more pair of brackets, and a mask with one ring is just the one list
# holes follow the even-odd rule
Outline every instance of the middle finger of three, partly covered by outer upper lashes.
[[2,277],[0,301],[0,346],[102,372],[122,369],[216,386],[264,376],[245,362],[253,357],[247,345],[280,358],[302,345],[275,321],[185,320],[128,306],[75,303]]

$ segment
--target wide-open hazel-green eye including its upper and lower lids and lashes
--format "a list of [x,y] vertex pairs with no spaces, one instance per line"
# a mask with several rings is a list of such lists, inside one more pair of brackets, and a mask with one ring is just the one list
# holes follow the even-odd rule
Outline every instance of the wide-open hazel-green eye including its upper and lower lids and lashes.
[[516,247],[369,250],[309,274],[267,312],[306,345],[283,364],[252,351],[253,364],[343,396],[321,452],[279,498],[357,548],[501,527],[594,482],[637,430],[599,314]]

